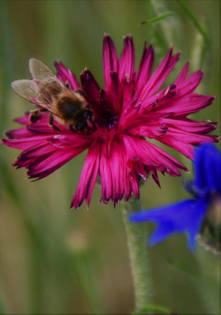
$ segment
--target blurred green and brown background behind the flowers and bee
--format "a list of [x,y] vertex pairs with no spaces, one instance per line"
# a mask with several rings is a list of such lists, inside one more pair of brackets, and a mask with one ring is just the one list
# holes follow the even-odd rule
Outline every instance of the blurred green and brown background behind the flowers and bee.
[[[10,83],[29,78],[32,57],[53,69],[61,60],[75,75],[85,68],[103,88],[102,39],[109,33],[120,56],[123,39],[133,34],[136,70],[144,40],[156,47],[155,68],[174,44],[180,61],[166,82],[174,82],[187,60],[190,72],[205,69],[198,93],[216,95],[207,109],[192,115],[203,121],[220,119],[220,1],[183,1],[205,29],[209,46],[176,0],[163,1],[0,1],[1,129],[18,128],[12,119],[32,105]],[[162,10],[174,11],[161,22],[138,26]],[[203,48],[204,47],[204,48]],[[205,48],[206,47],[206,48]],[[200,57],[202,54],[202,58]],[[165,83],[165,84],[166,84]],[[220,127],[213,134],[220,134]],[[162,145],[160,145],[163,147]],[[164,147],[163,147],[164,148]],[[191,170],[191,161],[166,151]],[[125,314],[134,296],[129,253],[121,214],[100,200],[95,186],[87,211],[70,210],[86,152],[48,177],[30,183],[24,169],[10,166],[19,150],[1,146],[1,313],[2,314]],[[159,174],[141,188],[142,207],[150,208],[187,196],[181,178]],[[147,224],[149,231],[153,225]],[[220,257],[197,246],[186,248],[186,236],[175,235],[150,248],[152,301],[178,314],[218,314]]]

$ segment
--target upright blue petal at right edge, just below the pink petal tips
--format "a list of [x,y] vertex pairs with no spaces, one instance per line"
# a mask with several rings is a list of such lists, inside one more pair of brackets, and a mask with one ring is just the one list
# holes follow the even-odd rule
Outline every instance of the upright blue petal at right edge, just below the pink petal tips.
[[201,197],[211,191],[221,195],[221,154],[213,144],[196,148],[194,174],[193,184]]

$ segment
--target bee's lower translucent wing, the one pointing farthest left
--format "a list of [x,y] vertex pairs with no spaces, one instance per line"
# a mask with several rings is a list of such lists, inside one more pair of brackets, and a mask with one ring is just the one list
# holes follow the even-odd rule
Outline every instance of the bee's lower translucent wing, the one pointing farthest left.
[[23,97],[25,100],[31,100],[37,94],[37,85],[32,80],[16,80],[11,83],[15,93]]

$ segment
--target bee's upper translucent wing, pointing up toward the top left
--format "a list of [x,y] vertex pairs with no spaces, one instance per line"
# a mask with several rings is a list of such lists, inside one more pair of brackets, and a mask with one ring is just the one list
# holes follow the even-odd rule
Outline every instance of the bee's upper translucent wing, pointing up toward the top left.
[[38,81],[42,81],[48,77],[53,77],[57,80],[56,74],[38,59],[31,58],[29,60],[29,69],[32,77]]

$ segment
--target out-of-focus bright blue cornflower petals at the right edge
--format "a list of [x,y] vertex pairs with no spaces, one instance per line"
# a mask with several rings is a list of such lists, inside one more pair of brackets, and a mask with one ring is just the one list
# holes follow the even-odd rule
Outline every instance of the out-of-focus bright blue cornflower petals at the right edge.
[[193,196],[177,203],[131,214],[129,221],[152,221],[156,230],[149,245],[163,241],[174,233],[187,233],[188,248],[196,247],[196,235],[214,196],[221,198],[221,154],[212,144],[195,150],[194,179],[185,187]]

